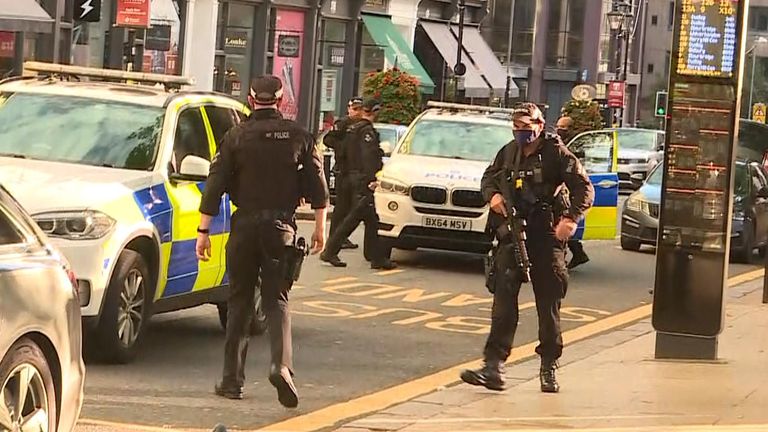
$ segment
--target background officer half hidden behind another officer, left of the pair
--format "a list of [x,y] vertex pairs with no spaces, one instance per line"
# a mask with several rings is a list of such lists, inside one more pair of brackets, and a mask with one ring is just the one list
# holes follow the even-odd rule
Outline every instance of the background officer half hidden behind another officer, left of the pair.
[[[333,150],[334,159],[336,160],[333,166],[336,179],[336,203],[333,206],[329,235],[333,235],[333,232],[341,225],[341,222],[354,205],[354,190],[350,187],[348,170],[345,166],[344,142],[346,141],[347,129],[360,120],[362,112],[363,98],[359,96],[353,97],[347,105],[347,116],[337,120],[333,125],[333,130],[328,132],[325,138],[323,138],[323,143]],[[352,243],[349,239],[345,239],[341,248],[357,249],[358,245]]]

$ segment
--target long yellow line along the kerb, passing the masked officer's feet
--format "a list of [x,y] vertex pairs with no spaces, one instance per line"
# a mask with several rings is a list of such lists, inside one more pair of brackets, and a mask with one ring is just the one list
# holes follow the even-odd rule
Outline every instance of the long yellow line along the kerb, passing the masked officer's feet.
[[[754,270],[743,275],[738,275],[728,280],[728,286],[748,282],[757,279],[762,275],[763,270]],[[564,332],[563,340],[565,343],[572,344],[617,327],[640,321],[648,318],[651,315],[651,310],[652,305],[646,304],[598,321],[584,324],[583,326]],[[513,348],[507,361],[509,363],[514,363],[533,357],[535,355],[534,349],[536,348],[536,345],[538,345],[538,342],[532,342]],[[477,368],[480,367],[481,364],[482,360],[478,359],[456,365],[432,375],[417,378],[346,402],[337,403],[279,423],[273,423],[261,430],[271,432],[310,432],[335,426],[343,420],[381,411],[393,405],[397,405],[398,403],[430,393],[439,387],[453,384],[458,381],[459,373],[461,373],[463,369]]]

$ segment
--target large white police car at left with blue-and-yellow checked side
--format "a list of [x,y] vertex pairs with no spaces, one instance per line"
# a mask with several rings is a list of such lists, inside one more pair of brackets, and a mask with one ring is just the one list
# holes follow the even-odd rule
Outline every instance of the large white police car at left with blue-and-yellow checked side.
[[[208,262],[195,257],[198,206],[217,143],[247,108],[179,91],[191,84],[182,77],[44,63],[24,72],[0,82],[0,184],[71,262],[96,351],[130,361],[152,314],[204,303],[226,325],[233,206],[222,200]],[[257,312],[254,332],[265,328]]]

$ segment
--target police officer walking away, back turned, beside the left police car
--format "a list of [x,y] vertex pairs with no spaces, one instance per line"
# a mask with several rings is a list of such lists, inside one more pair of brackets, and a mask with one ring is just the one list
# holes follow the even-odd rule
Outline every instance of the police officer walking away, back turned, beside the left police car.
[[286,269],[295,264],[290,258],[303,240],[296,240],[295,221],[302,197],[309,198],[315,210],[313,252],[323,249],[328,187],[312,135],[277,110],[282,93],[277,77],[253,80],[248,97],[253,114],[224,136],[211,165],[200,203],[196,252],[198,259],[209,259],[211,220],[219,212],[222,194],[229,193],[237,211],[226,252],[230,294],[224,373],[215,392],[230,399],[243,397],[249,323],[254,289],[259,286],[272,351],[269,382],[277,388],[282,405],[296,407],[288,312],[295,274]]

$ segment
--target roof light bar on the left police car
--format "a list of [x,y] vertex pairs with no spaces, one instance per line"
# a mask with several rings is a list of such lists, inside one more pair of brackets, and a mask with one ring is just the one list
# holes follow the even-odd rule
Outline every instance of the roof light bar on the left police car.
[[43,62],[24,62],[24,75],[71,75],[77,77],[107,78],[121,81],[156,83],[169,86],[193,85],[195,80],[188,77],[161,75],[143,72],[126,72],[114,69],[97,69],[83,66],[70,66]]

